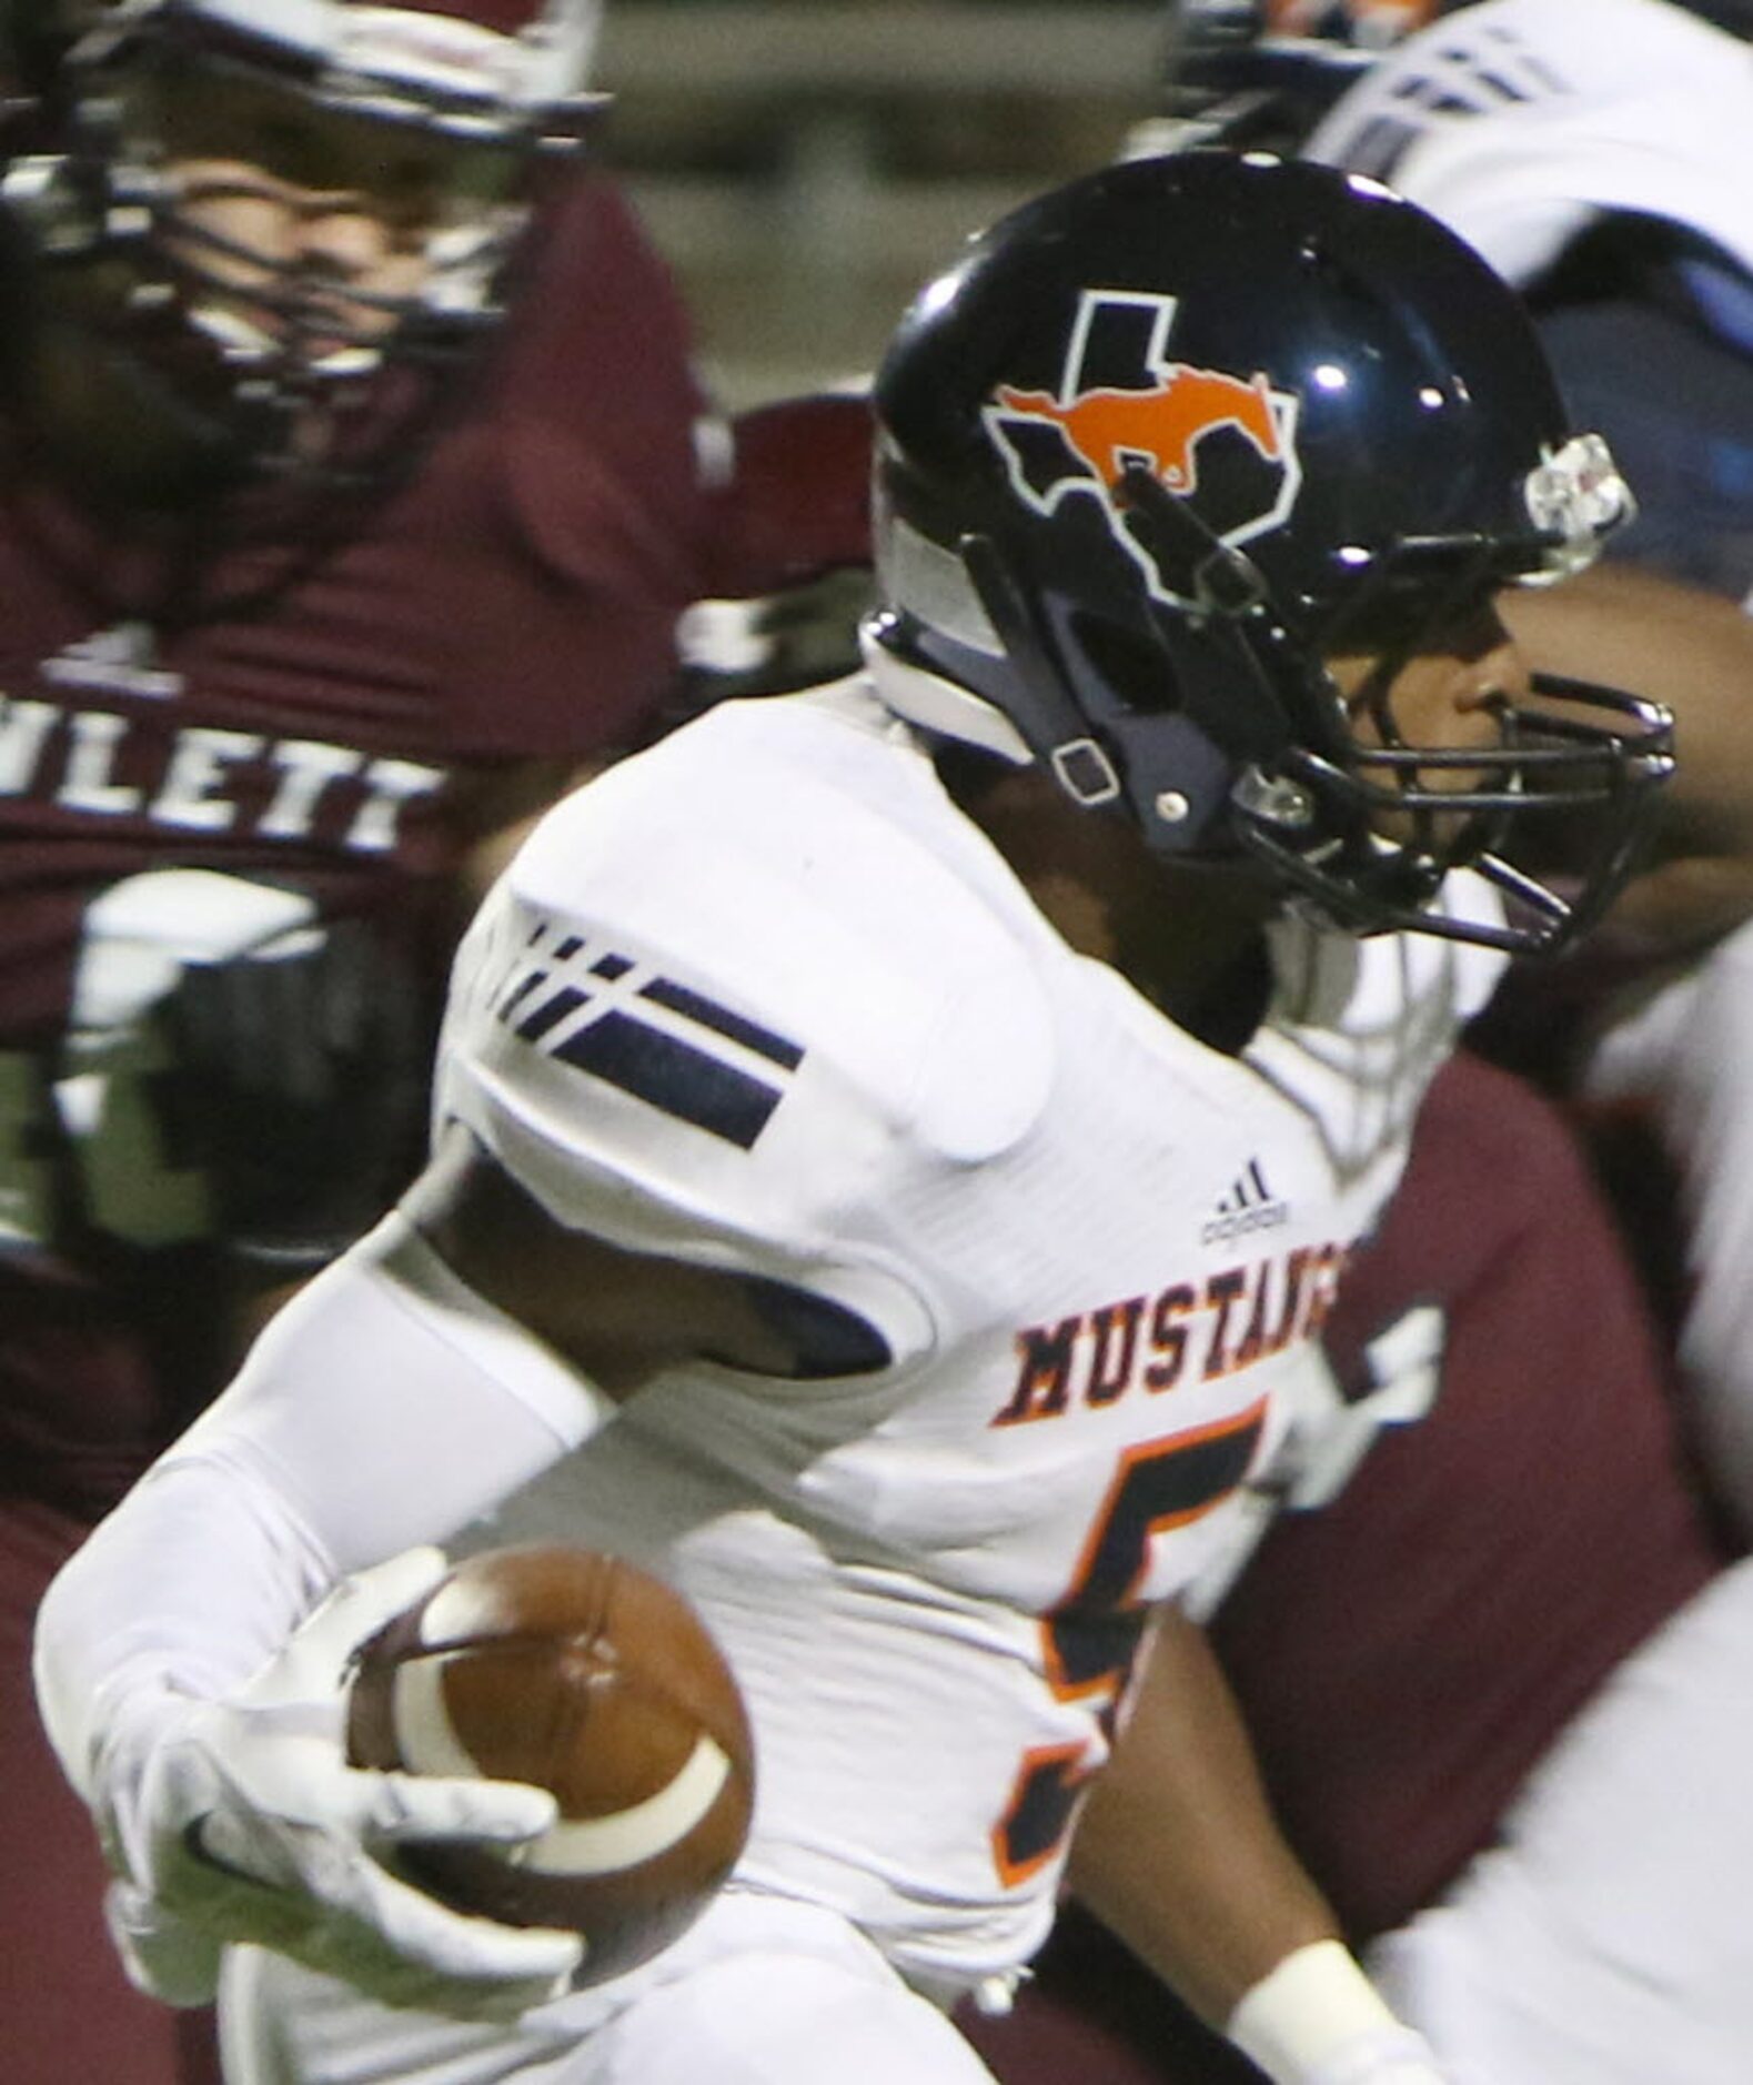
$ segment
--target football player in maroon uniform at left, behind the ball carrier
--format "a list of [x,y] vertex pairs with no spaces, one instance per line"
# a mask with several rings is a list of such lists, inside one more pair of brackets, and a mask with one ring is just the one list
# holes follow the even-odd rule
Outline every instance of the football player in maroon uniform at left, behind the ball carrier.
[[35,1601],[419,1161],[496,836],[661,696],[707,528],[592,0],[8,8],[0,1937],[21,2085],[163,2085]]

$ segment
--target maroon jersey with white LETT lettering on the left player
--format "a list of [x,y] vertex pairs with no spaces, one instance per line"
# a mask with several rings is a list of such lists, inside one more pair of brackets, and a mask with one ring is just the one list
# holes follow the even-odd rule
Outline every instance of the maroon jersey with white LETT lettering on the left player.
[[[667,690],[711,528],[677,296],[596,177],[554,198],[525,267],[459,394],[409,419],[388,490],[254,492],[179,542],[23,473],[0,496],[15,1485],[71,1432],[110,1491],[161,1430],[154,1382],[200,1374],[181,1332],[142,1347],[146,1320],[161,1343],[186,1324],[165,1255],[208,1220],[154,1115],[150,1009],[177,965],[348,915],[431,972],[469,786],[625,744]],[[202,1295],[196,1272],[196,1314]]]

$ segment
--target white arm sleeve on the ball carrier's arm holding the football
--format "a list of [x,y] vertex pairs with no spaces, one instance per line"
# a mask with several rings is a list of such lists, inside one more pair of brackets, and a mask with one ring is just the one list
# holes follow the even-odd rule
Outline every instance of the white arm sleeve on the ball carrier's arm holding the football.
[[336,1578],[442,1541],[611,1409],[386,1218],[50,1587],[38,1697],[75,1787],[119,1722],[242,1685]]

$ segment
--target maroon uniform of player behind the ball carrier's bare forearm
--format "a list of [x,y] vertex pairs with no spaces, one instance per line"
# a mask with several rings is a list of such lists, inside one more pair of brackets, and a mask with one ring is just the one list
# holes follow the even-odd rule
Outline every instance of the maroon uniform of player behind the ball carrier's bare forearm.
[[[1384,1428],[1332,1503],[1282,1514],[1211,1626],[1280,1822],[1359,1941],[1490,1841],[1565,1720],[1724,1562],[1567,1126],[1465,1055],[1326,1324],[1351,1401],[1432,1305],[1428,1416]],[[1076,1914],[1013,2020],[971,2033],[1005,2085],[1255,2077]]]

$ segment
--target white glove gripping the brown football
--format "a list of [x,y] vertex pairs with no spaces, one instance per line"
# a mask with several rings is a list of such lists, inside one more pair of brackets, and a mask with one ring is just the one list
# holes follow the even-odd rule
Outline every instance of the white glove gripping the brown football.
[[346,1580],[225,1701],[167,1701],[100,1770],[123,1881],[110,1931],[129,1974],[171,2004],[211,1995],[221,1945],[275,1947],[390,2006],[515,2018],[577,1968],[573,1933],[469,1918],[381,1862],[404,1839],[517,1845],[554,1820],[546,1789],[350,1768],[352,1649],[444,1574],[411,1549]]

